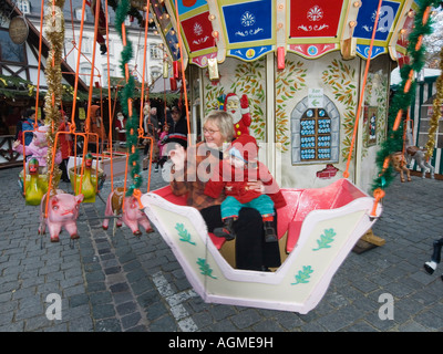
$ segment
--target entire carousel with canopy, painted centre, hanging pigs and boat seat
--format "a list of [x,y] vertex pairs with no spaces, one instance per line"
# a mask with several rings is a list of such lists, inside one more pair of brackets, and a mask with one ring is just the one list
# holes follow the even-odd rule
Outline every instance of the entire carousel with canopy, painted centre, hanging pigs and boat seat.
[[[62,0],[50,2],[55,8],[64,4]],[[100,2],[94,3],[96,34],[101,9],[96,6]],[[122,0],[114,4],[115,27],[124,44],[121,67],[126,84],[120,100],[128,117],[125,131],[131,170],[125,171],[124,188],[109,196],[104,219],[120,218],[119,222],[138,236],[138,223],[146,232],[154,225],[207,302],[311,311],[382,212],[384,188],[393,175],[390,155],[402,145],[392,140],[403,135],[402,117],[411,104],[408,92],[422,65],[422,38],[429,33],[432,7],[439,7],[440,1]],[[85,1],[83,12],[84,6]],[[174,196],[168,186],[150,190],[150,178],[146,192],[142,191],[136,145],[140,138],[154,142],[142,129],[144,84],[140,116],[132,100],[132,44],[126,40],[124,19],[133,11],[145,19],[151,13],[164,40],[164,77],[171,76],[171,86],[181,81],[188,144],[198,140],[202,117],[214,110],[233,115],[236,137],[250,135],[258,142],[259,160],[269,168],[287,202],[277,209],[282,261],[278,269],[237,269],[235,242],[208,232],[198,210],[186,206],[184,197]],[[48,27],[55,23],[56,15],[60,12],[48,13]],[[47,72],[53,82],[45,98],[47,124],[58,127],[60,73],[55,67],[62,31],[47,31],[53,34],[54,48]],[[146,33],[147,21],[145,42]],[[390,106],[389,77],[395,65],[402,66],[403,96],[392,100]],[[90,101],[91,96],[90,92]],[[231,106],[233,100],[238,105]],[[86,122],[90,119],[89,111]],[[62,226],[71,239],[79,237],[78,206],[87,199],[87,189],[93,196],[99,188],[99,177],[83,188],[83,179],[94,175],[85,174],[92,163],[83,159],[75,169],[80,175],[76,196],[56,189],[58,139],[63,134],[82,135],[87,143],[96,135],[87,129],[75,133],[73,125],[72,116],[69,132],[52,128],[48,134],[48,188],[40,194],[39,231],[43,233],[48,225],[51,241],[59,241]],[[113,156],[112,144],[109,149]],[[87,152],[83,153],[86,156]],[[126,184],[127,175],[132,183]],[[63,199],[72,210],[69,219],[64,219]]]

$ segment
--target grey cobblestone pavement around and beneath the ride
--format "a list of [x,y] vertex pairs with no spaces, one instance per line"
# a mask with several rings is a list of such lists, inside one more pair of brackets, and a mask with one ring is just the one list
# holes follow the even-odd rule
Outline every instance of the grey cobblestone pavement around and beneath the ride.
[[[0,170],[1,332],[443,331],[442,268],[433,275],[423,270],[433,240],[442,237],[443,181],[395,179],[373,228],[385,244],[351,252],[319,305],[301,315],[203,302],[158,232],[136,238],[123,227],[114,233],[112,222],[102,229],[100,198],[82,204],[79,240],[64,231],[51,243],[38,236],[39,207],[20,196],[20,169]],[[143,177],[146,183],[147,171]],[[153,173],[151,189],[164,185]],[[110,188],[106,180],[103,199]],[[394,299],[392,320],[379,316],[384,293]],[[61,299],[61,319],[47,316],[54,313],[50,294]]]

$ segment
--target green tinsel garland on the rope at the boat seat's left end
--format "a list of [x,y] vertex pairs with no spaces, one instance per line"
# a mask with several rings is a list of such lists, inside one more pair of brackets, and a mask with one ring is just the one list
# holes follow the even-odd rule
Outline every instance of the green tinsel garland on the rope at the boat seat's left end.
[[[122,23],[124,22],[126,15],[131,10],[131,4],[128,0],[121,0],[119,2],[119,7],[115,11],[115,30],[119,32],[120,37],[123,41],[122,33]],[[126,39],[126,45],[122,52],[122,60],[120,64],[120,69],[122,70],[123,76],[125,76],[125,65],[130,62],[133,56],[132,43]],[[140,164],[138,164],[138,149],[137,139],[138,139],[138,114],[136,110],[132,110],[132,115],[130,116],[130,108],[127,105],[128,100],[134,97],[134,88],[135,88],[135,80],[133,75],[130,75],[126,85],[119,93],[121,105],[123,113],[128,117],[126,121],[126,146],[130,150],[128,164],[131,166],[131,177],[133,184],[127,188],[126,196],[132,196],[135,189],[140,189],[143,183],[143,178],[140,174]],[[134,146],[134,153],[132,153]]]

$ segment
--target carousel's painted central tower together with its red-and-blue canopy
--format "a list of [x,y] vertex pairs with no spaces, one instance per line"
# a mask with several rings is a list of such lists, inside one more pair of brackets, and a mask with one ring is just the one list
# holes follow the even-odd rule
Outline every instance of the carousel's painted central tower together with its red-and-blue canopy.
[[[247,96],[249,134],[281,187],[340,178],[359,114],[349,173],[371,190],[387,136],[390,72],[409,62],[418,2],[154,0],[150,9],[169,49],[171,80],[186,70],[198,116],[229,94]],[[328,165],[341,173],[321,177]]]

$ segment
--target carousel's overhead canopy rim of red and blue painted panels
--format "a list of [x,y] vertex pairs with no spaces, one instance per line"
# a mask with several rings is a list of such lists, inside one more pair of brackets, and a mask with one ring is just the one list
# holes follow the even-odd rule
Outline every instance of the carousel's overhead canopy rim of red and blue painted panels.
[[[383,0],[371,56],[406,54],[419,0]],[[340,50],[368,59],[378,0],[152,0],[151,12],[173,60],[207,66],[288,51],[308,59]],[[179,34],[177,30],[179,29]]]

